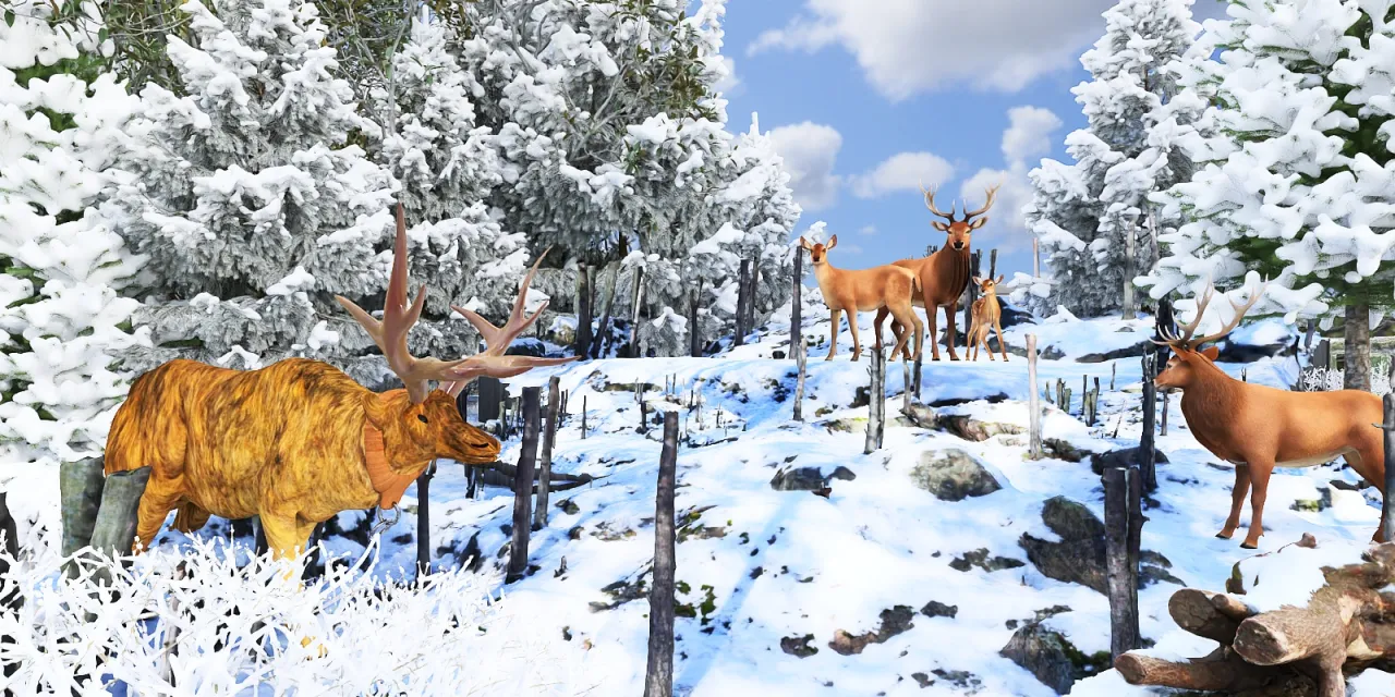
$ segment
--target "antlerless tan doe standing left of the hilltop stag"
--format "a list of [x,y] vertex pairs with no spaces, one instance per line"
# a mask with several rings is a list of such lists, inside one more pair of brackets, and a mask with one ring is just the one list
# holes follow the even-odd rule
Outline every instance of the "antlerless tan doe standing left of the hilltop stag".
[[[877,316],[884,316],[883,312],[890,312],[897,321],[915,328],[915,355],[921,354],[923,325],[921,323],[921,318],[915,316],[915,309],[911,305],[911,298],[919,289],[919,282],[914,273],[898,266],[836,269],[829,263],[829,250],[838,245],[838,236],[829,238],[827,247],[819,243],[810,244],[804,237],[799,237],[799,245],[809,250],[809,258],[813,261],[813,277],[819,282],[823,302],[829,305],[829,321],[831,322],[829,332],[831,337],[829,339],[829,357],[824,358],[826,361],[831,361],[838,350],[838,315],[844,311],[848,312],[848,329],[852,332],[854,361],[862,354],[862,343],[858,340],[858,312],[869,309],[876,309]],[[910,335],[897,335],[896,339],[896,348],[891,351],[893,355],[904,348]],[[882,350],[880,322],[876,325],[875,346],[877,350]],[[910,354],[908,350],[904,353]]]

